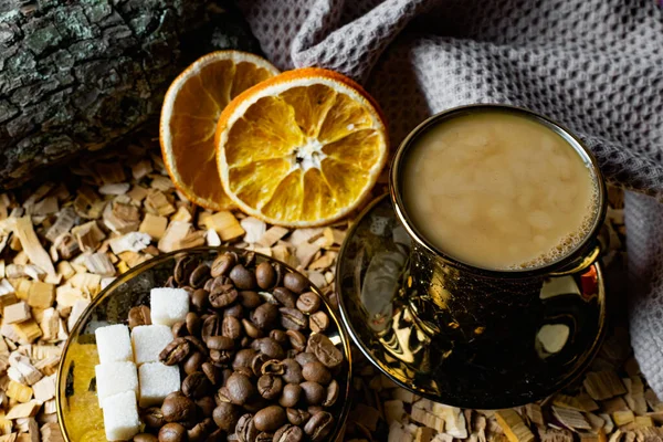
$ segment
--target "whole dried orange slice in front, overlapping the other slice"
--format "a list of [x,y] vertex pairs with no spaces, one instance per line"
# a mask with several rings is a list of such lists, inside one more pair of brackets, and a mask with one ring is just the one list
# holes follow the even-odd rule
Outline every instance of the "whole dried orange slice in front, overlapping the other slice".
[[244,212],[313,227],[357,208],[387,160],[385,123],[358,84],[305,67],[234,98],[217,127],[221,182]]

